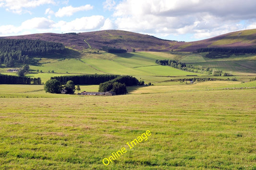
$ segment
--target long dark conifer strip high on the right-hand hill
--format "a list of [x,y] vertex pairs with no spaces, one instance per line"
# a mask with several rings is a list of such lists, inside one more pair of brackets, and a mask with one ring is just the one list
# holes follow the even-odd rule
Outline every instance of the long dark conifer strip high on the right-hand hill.
[[256,49],[253,48],[239,48],[239,49],[231,49],[231,48],[202,48],[196,49],[196,52],[228,52],[228,53],[256,53]]

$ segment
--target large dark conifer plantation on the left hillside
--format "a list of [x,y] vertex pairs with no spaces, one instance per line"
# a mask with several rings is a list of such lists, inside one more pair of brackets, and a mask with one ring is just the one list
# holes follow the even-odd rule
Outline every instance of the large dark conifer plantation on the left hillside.
[[61,43],[30,39],[0,39],[0,64],[12,67],[15,62],[28,63],[31,56],[65,53]]

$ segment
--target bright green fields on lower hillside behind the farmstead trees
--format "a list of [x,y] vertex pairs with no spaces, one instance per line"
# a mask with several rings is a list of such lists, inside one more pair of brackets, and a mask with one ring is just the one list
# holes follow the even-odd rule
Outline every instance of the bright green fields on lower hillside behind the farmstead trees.
[[[161,83],[166,81],[167,76],[198,75],[201,73],[185,72],[168,66],[161,66],[155,63],[158,59],[172,59],[202,66],[204,68],[217,68],[223,71],[232,71],[234,75],[249,76],[240,78],[241,81],[248,81],[250,76],[256,76],[256,56],[251,54],[232,55],[230,58],[208,59],[206,53],[193,54],[188,52],[130,52],[125,54],[110,54],[103,51],[97,53],[82,52],[79,55],[52,56],[53,58],[37,58],[35,64],[30,65],[31,73],[26,74],[33,78],[40,77],[45,83],[52,76],[70,74],[121,74],[144,77],[145,82]],[[73,56],[73,57],[72,57]],[[7,73],[8,68],[0,69],[1,73]],[[42,70],[43,73],[37,73]],[[54,70],[54,73],[48,73]],[[207,76],[207,75],[205,75]],[[220,77],[221,78],[221,77]],[[172,78],[177,79],[177,78]],[[239,79],[239,78],[238,78]]]

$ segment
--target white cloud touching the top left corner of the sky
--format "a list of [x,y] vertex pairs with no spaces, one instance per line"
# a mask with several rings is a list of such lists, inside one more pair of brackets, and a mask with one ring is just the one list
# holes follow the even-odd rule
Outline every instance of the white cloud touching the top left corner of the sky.
[[26,9],[44,4],[55,4],[54,0],[1,0],[0,7],[14,13],[29,12]]

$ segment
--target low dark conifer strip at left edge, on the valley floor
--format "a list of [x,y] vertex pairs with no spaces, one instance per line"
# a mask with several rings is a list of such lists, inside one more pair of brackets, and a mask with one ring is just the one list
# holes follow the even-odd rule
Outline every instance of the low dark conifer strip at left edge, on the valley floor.
[[20,77],[15,75],[0,74],[0,84],[9,85],[41,85],[41,78]]

